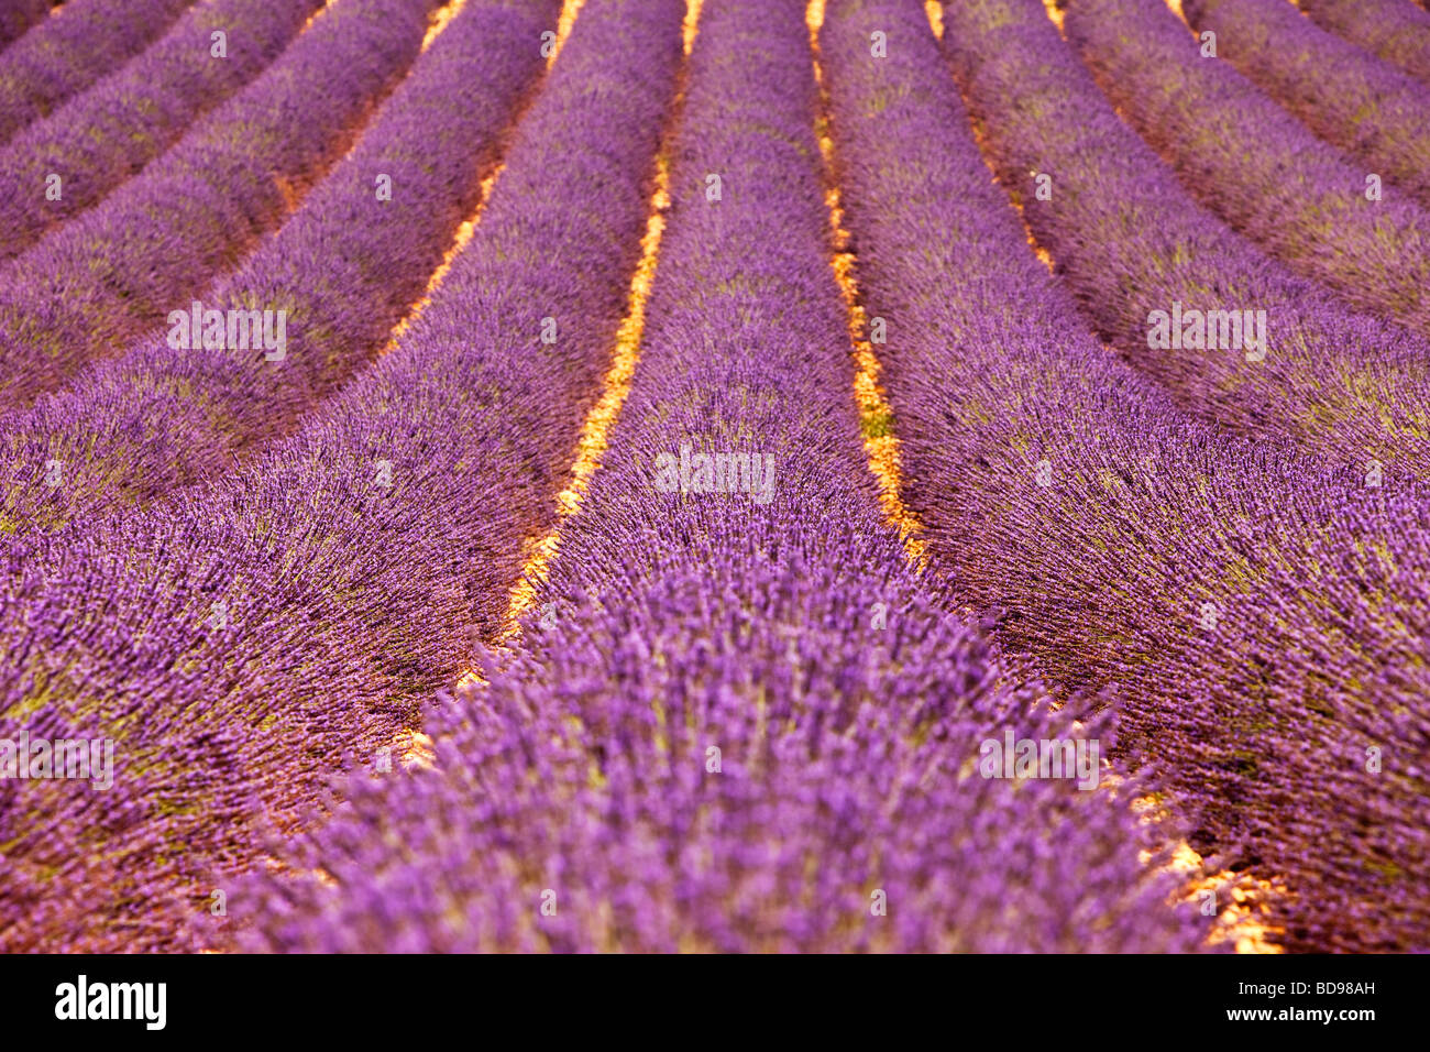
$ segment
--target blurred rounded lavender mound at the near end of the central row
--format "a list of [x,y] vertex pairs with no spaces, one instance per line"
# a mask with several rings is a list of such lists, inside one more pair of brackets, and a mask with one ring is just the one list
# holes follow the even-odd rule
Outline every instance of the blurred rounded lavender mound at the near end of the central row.
[[[555,643],[429,710],[436,773],[358,779],[235,895],[240,946],[1197,949],[1125,800],[975,769],[1008,729],[1107,741],[1107,721],[997,687],[977,638],[859,552],[848,532],[827,552],[845,578],[741,550],[638,581],[616,615],[571,608]],[[849,641],[869,587],[909,601],[882,647]]]

